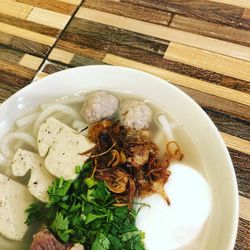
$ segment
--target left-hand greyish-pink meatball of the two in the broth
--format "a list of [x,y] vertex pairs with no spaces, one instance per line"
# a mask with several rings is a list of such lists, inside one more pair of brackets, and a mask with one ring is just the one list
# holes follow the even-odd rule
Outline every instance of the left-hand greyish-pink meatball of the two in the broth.
[[119,108],[119,99],[106,92],[91,93],[81,109],[81,115],[88,123],[99,122],[113,116]]

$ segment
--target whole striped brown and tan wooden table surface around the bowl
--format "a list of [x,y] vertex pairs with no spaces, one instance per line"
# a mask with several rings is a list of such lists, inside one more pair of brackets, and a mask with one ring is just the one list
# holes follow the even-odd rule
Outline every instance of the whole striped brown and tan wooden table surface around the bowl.
[[207,112],[237,175],[235,249],[249,250],[250,1],[0,0],[0,102],[34,79],[93,64],[160,76]]

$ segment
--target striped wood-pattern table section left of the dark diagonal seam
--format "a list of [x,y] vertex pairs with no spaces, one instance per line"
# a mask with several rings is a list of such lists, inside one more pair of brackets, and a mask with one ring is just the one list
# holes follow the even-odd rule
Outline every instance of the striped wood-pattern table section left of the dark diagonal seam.
[[0,1],[0,101],[29,84],[81,1]]

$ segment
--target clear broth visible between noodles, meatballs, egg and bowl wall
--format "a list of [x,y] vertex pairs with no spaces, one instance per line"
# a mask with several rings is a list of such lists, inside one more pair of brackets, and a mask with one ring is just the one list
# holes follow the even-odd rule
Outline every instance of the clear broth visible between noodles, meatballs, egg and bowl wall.
[[[84,94],[87,94],[87,93],[84,93]],[[142,100],[140,97],[134,96],[131,94],[116,93],[116,92],[114,94],[120,98],[121,102],[123,102],[124,100],[128,100],[128,99]],[[78,95],[82,95],[82,93],[76,94],[76,96],[78,96]],[[67,100],[67,98],[70,98],[70,97],[62,97],[59,99],[54,99],[54,100],[49,101],[48,103],[55,103],[55,102],[60,103],[61,100]],[[161,107],[155,105],[150,100],[143,100],[143,101],[145,101],[153,110],[154,120],[150,126],[150,132],[152,134],[153,141],[155,141],[155,143],[157,143],[157,145],[160,147],[160,150],[163,151],[165,149],[166,136],[165,136],[164,132],[159,128],[159,125],[155,122],[155,117],[159,114],[164,114],[172,126],[175,140],[178,142],[178,145],[180,146],[182,152],[184,153],[184,158],[183,158],[182,162],[186,165],[192,166],[193,169],[198,171],[205,179],[207,179],[206,178],[206,169],[205,169],[205,166],[203,164],[202,157],[201,157],[199,150],[195,146],[195,143],[193,142],[192,138],[188,135],[188,132],[185,130],[183,125],[181,123],[179,123],[174,118],[174,114],[170,114],[167,110],[162,109]],[[82,106],[81,103],[73,103],[73,104],[67,104],[67,105],[74,108],[78,113],[80,113],[80,109]],[[32,114],[33,112],[41,112],[41,111],[42,111],[42,109],[40,107],[38,107],[29,114]],[[28,114],[25,114],[24,116],[26,116],[26,115],[28,115]],[[65,115],[63,113],[55,113],[53,115],[53,117],[57,118],[58,120],[64,122],[65,124],[67,124],[69,126],[72,125],[73,120],[68,115]],[[82,121],[84,122],[84,120],[82,120]],[[34,123],[32,123],[24,128],[21,128],[21,129],[18,128],[17,125],[14,125],[14,127],[9,132],[15,132],[15,131],[27,132],[36,138],[36,135],[34,134],[34,131],[33,131],[33,124]],[[11,158],[14,156],[14,153],[18,148],[23,148],[23,149],[34,151],[25,144],[16,143],[15,145],[12,145],[13,155],[11,155]],[[5,166],[5,167],[0,167],[0,173],[8,175],[12,179],[14,179],[14,180],[16,180],[24,185],[27,185],[28,180],[29,180],[28,176],[22,177],[22,178],[13,176],[10,165]],[[26,232],[23,240],[20,242],[11,241],[11,240],[6,239],[5,237],[0,235],[0,242],[2,244],[1,250],[10,250],[10,249],[25,250],[25,249],[29,249],[31,242],[32,242],[32,236],[36,232],[38,232],[40,226],[41,225],[37,224],[37,225],[33,225],[32,227],[30,227],[28,229],[28,231]],[[186,247],[181,248],[181,249],[185,249],[185,250],[197,249],[195,246],[202,245],[202,242],[204,241],[204,238],[205,238],[205,232],[206,232],[206,228],[204,228],[204,230],[201,232],[199,238],[196,239],[196,241],[194,243],[191,243],[190,246],[186,246]]]

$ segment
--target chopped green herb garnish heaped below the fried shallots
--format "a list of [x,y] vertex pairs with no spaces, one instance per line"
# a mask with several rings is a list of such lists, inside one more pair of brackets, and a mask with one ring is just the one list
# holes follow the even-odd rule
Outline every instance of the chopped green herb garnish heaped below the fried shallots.
[[144,234],[135,226],[136,212],[115,207],[104,182],[91,176],[91,162],[76,167],[75,180],[57,179],[49,187],[47,204],[32,204],[26,224],[38,220],[64,243],[86,250],[143,250]]

